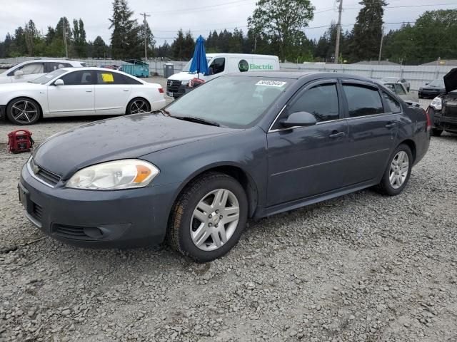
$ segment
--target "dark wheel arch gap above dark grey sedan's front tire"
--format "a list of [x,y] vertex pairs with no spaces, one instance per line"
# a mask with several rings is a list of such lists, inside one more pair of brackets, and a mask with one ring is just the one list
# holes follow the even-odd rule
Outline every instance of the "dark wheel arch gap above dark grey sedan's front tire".
[[258,187],[256,185],[256,182],[253,180],[253,177],[249,174],[249,172],[243,170],[243,168],[239,165],[235,165],[232,163],[206,165],[206,167],[197,170],[192,175],[190,175],[181,184],[181,187],[179,187],[179,190],[175,195],[169,215],[171,215],[171,212],[173,210],[174,205],[176,204],[176,201],[179,199],[182,193],[189,187],[189,185],[191,185],[191,183],[194,182],[194,180],[198,179],[199,177],[202,177],[203,175],[209,172],[224,173],[225,175],[233,177],[240,183],[248,199],[248,217],[253,217],[254,212],[256,212],[258,206]]

